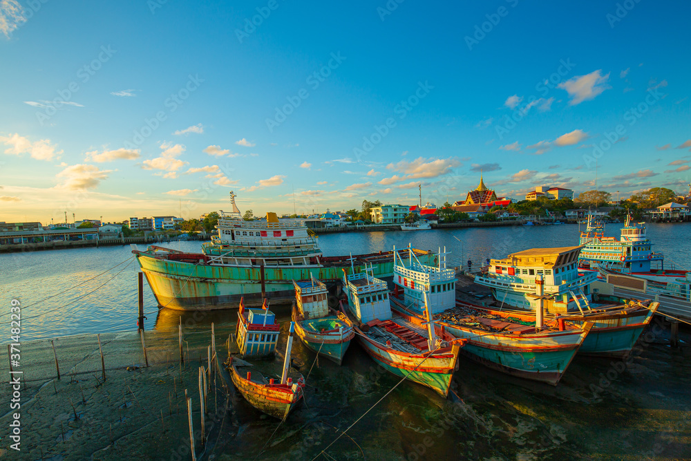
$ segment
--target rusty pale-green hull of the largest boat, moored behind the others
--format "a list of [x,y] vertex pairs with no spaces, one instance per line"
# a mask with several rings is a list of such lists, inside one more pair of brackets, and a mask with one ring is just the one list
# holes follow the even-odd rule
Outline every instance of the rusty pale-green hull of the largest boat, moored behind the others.
[[[431,254],[424,255],[433,261]],[[240,298],[245,305],[261,305],[262,288],[271,294],[273,303],[290,303],[294,299],[293,280],[337,281],[341,266],[229,266],[171,261],[138,252],[137,260],[149,281],[160,307],[177,310],[237,309]],[[362,266],[363,267],[363,266]],[[362,267],[356,267],[356,272]],[[393,262],[372,265],[375,276],[391,276]],[[263,280],[263,283],[262,283]]]

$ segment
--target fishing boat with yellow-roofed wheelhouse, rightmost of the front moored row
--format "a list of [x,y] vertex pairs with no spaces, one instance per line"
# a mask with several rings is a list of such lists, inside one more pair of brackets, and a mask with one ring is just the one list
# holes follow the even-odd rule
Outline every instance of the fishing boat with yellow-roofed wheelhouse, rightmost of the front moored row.
[[638,300],[591,302],[590,286],[597,279],[594,272],[578,272],[577,247],[533,248],[492,259],[486,274],[475,276],[475,283],[491,289],[500,308],[504,304],[520,308],[509,311],[519,319],[534,319],[545,312],[583,325],[594,324],[578,350],[579,353],[605,357],[625,357],[645,326],[652,320],[659,303]]

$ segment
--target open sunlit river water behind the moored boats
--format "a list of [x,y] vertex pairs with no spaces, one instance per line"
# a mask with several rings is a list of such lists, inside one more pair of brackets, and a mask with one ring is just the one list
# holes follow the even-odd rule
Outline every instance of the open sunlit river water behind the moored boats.
[[[621,225],[608,225],[607,235],[618,236]],[[683,224],[650,224],[647,234],[654,250],[665,254],[666,263],[691,268],[691,240]],[[533,247],[565,247],[578,244],[578,225],[471,227],[417,232],[350,232],[326,234],[319,244],[326,256],[413,247],[437,251],[446,247],[448,265],[466,267],[486,258],[500,258],[511,252]],[[173,242],[176,250],[199,252],[200,242]],[[145,250],[144,245],[139,245]],[[0,255],[0,319],[9,317],[12,297],[21,300],[23,339],[44,339],[78,333],[99,333],[136,328],[138,263],[131,247],[100,247]],[[94,278],[118,263],[111,272]],[[666,266],[665,266],[666,267]],[[114,279],[113,275],[121,271]],[[92,280],[90,280],[92,279]],[[105,285],[103,285],[105,283]],[[77,288],[75,285],[79,285]],[[103,285],[101,288],[100,285]],[[148,283],[144,282],[144,322],[147,330],[155,328],[158,307]],[[64,292],[53,298],[59,292]],[[164,317],[171,317],[163,312]],[[172,315],[176,317],[175,315]],[[214,314],[222,320],[230,314]],[[162,320],[162,319],[161,319]]]

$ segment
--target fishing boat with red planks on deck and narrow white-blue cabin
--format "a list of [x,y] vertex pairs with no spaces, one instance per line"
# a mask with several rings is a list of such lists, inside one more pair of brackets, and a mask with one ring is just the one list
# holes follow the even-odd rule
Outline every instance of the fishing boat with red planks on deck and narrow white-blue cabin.
[[392,315],[386,282],[371,273],[343,270],[343,289],[348,303],[341,308],[365,352],[390,373],[446,398],[464,341],[438,330],[434,321],[420,326]]

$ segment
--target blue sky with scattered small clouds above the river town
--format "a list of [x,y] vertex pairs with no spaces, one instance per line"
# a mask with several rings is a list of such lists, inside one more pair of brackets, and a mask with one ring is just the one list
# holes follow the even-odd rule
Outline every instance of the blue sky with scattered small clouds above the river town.
[[690,10],[0,0],[0,220],[685,191]]

